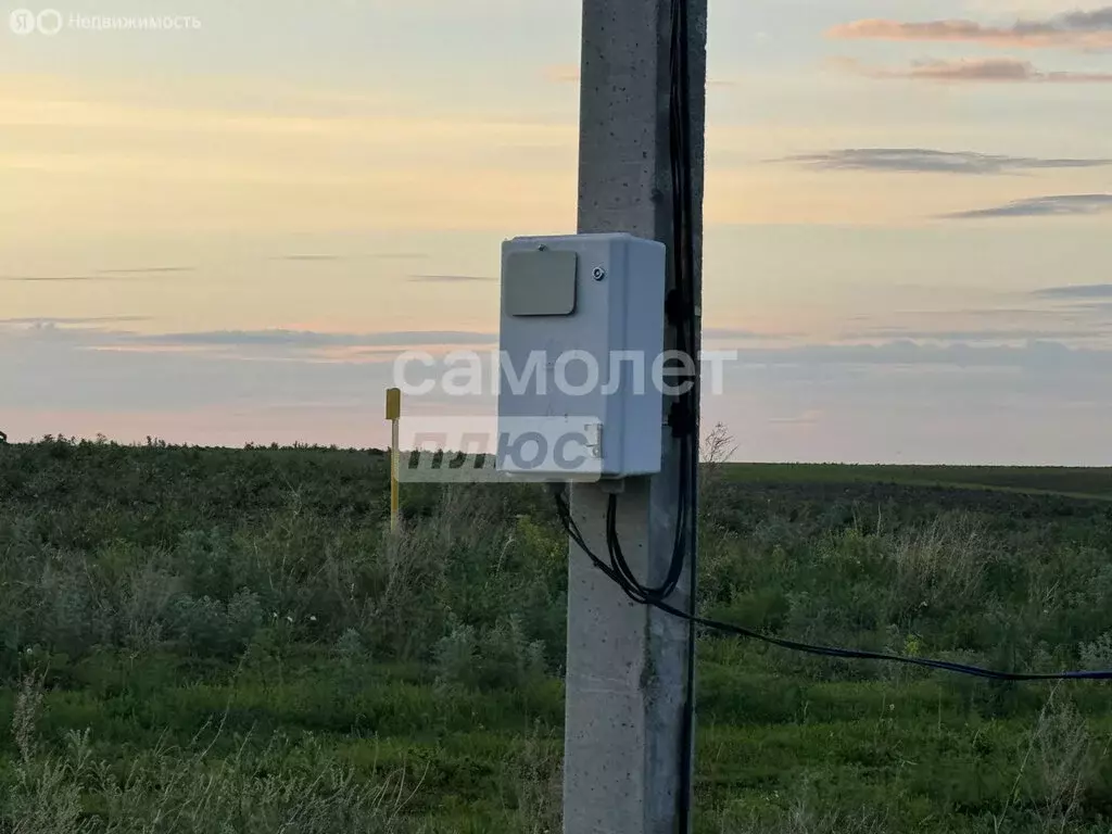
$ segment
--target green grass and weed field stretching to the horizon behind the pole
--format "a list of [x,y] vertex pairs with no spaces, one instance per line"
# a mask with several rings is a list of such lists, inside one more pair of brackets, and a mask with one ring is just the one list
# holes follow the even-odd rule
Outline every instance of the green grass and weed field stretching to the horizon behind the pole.
[[[1085,497],[1082,497],[1085,496]],[[1112,473],[715,466],[701,607],[1112,667]],[[319,448],[0,446],[0,832],[559,830],[566,537]],[[697,830],[1108,832],[1112,688],[699,649]]]

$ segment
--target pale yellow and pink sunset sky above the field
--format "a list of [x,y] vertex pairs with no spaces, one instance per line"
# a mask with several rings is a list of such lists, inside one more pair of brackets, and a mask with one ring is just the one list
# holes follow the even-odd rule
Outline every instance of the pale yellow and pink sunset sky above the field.
[[[577,0],[51,8],[0,8],[12,440],[384,446],[399,353],[493,348],[502,241],[574,231]],[[1109,0],[711,0],[708,48],[735,457],[1112,465]]]

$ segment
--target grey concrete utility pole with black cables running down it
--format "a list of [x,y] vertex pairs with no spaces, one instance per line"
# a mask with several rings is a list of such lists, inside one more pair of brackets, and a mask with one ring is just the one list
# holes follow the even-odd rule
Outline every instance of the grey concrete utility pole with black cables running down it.
[[[696,298],[701,297],[706,7],[688,1]],[[579,231],[629,232],[672,246],[672,0],[584,0]],[[675,276],[669,275],[668,287]],[[666,345],[676,344],[668,332]],[[652,359],[649,359],[649,365]],[[671,405],[665,398],[665,407]],[[663,424],[662,416],[662,424]],[[618,534],[646,584],[672,557],[679,446],[662,425],[662,474],[627,479]],[[605,558],[607,494],[576,485],[572,513]],[[688,609],[687,577],[669,602]],[[687,625],[634,605],[573,543],[568,568],[565,834],[675,834]]]

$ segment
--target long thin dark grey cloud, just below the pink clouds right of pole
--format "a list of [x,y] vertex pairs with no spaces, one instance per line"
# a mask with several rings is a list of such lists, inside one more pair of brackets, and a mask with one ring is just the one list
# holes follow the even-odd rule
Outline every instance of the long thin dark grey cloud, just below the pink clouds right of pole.
[[822,153],[802,153],[772,161],[794,162],[831,171],[969,175],[1009,173],[1049,168],[1098,168],[1112,165],[1112,159],[1037,159],[925,148],[846,148]]

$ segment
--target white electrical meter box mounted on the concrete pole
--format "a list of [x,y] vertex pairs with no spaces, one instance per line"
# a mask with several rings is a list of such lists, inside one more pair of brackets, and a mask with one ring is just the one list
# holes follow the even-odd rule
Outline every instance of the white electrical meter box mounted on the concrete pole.
[[507,240],[497,468],[540,480],[661,470],[666,249],[631,235]]

